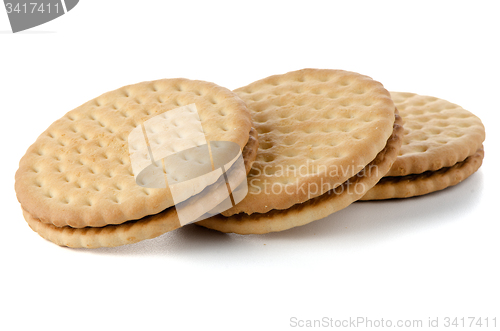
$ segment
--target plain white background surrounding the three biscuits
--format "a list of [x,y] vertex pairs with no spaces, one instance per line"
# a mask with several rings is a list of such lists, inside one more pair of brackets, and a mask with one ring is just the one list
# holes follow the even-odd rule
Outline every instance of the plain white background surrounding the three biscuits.
[[[494,1],[82,0],[12,34],[0,8],[0,329],[289,330],[299,329],[291,317],[358,316],[424,325],[496,316],[500,326],[499,9]],[[472,111],[486,126],[483,166],[442,192],[355,203],[260,236],[190,225],[119,248],[68,249],[24,221],[19,159],[85,101],[144,80],[233,89],[305,67],[360,72]]]

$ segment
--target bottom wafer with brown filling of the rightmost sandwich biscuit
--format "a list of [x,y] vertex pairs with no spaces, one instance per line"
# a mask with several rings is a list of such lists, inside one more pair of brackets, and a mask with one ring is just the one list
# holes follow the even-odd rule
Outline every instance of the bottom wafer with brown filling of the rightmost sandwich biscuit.
[[457,185],[481,166],[484,149],[451,167],[436,171],[426,171],[421,174],[407,176],[384,177],[371,188],[360,200],[382,200],[394,198],[409,198],[443,190]]

